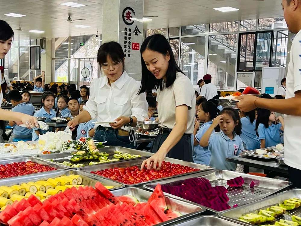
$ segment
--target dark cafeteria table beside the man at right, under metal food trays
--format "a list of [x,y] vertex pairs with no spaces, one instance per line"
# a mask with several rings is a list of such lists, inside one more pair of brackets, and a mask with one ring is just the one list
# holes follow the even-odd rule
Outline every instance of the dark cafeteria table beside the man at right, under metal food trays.
[[249,173],[249,168],[254,167],[263,169],[265,174],[269,176],[279,175],[279,173],[288,176],[288,167],[280,165],[276,159],[259,160],[246,155],[239,155],[226,158],[226,161],[244,165],[244,173]]

